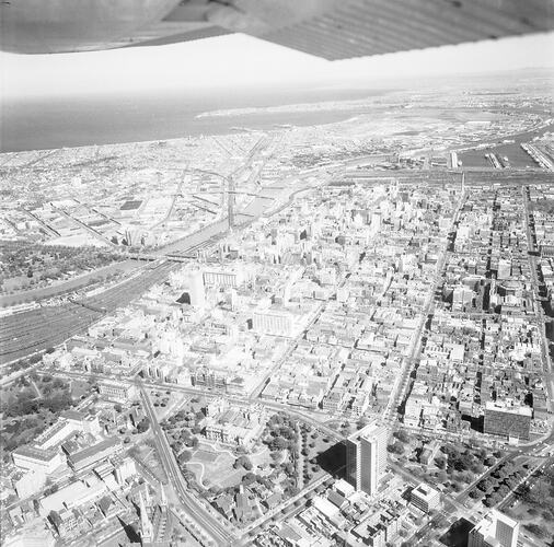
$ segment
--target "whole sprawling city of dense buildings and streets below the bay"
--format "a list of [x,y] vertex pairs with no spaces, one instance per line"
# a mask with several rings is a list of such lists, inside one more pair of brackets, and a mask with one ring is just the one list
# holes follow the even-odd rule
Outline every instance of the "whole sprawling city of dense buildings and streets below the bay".
[[[554,457],[554,126],[550,97],[522,103],[533,85],[8,155],[0,240],[37,258],[13,254],[0,309],[0,526],[453,547],[496,508],[545,547],[511,511]],[[74,260],[50,282],[56,245],[125,269]],[[72,489],[88,501],[68,510]]]

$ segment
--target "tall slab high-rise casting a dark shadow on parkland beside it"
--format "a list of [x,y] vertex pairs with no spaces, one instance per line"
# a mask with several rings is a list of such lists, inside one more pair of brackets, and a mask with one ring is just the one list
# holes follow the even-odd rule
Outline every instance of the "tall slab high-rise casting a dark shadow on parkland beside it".
[[377,492],[386,467],[388,438],[384,426],[371,422],[346,440],[346,480],[356,490]]

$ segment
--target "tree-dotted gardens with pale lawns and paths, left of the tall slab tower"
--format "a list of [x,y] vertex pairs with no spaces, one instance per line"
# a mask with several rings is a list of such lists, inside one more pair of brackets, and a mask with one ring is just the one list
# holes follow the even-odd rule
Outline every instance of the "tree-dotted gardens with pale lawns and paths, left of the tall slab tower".
[[[188,486],[218,511],[234,507],[241,492],[267,509],[274,502],[266,498],[289,499],[324,474],[319,456],[332,441],[313,426],[276,412],[252,446],[215,445],[201,437],[203,406],[201,400],[189,401],[162,427]],[[224,516],[235,519],[229,511]]]

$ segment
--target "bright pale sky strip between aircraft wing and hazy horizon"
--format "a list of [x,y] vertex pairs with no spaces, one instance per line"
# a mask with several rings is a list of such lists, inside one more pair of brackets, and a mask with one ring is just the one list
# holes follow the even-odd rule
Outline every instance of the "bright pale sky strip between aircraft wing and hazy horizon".
[[21,56],[0,53],[2,101],[115,93],[358,85],[383,79],[549,67],[554,33],[325,61],[235,34],[158,47]]

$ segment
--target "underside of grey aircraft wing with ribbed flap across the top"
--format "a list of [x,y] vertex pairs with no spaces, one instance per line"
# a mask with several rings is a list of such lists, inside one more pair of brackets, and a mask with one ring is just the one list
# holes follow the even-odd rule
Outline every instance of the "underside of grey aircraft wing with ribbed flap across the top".
[[0,0],[21,54],[244,33],[330,60],[554,30],[554,0]]

